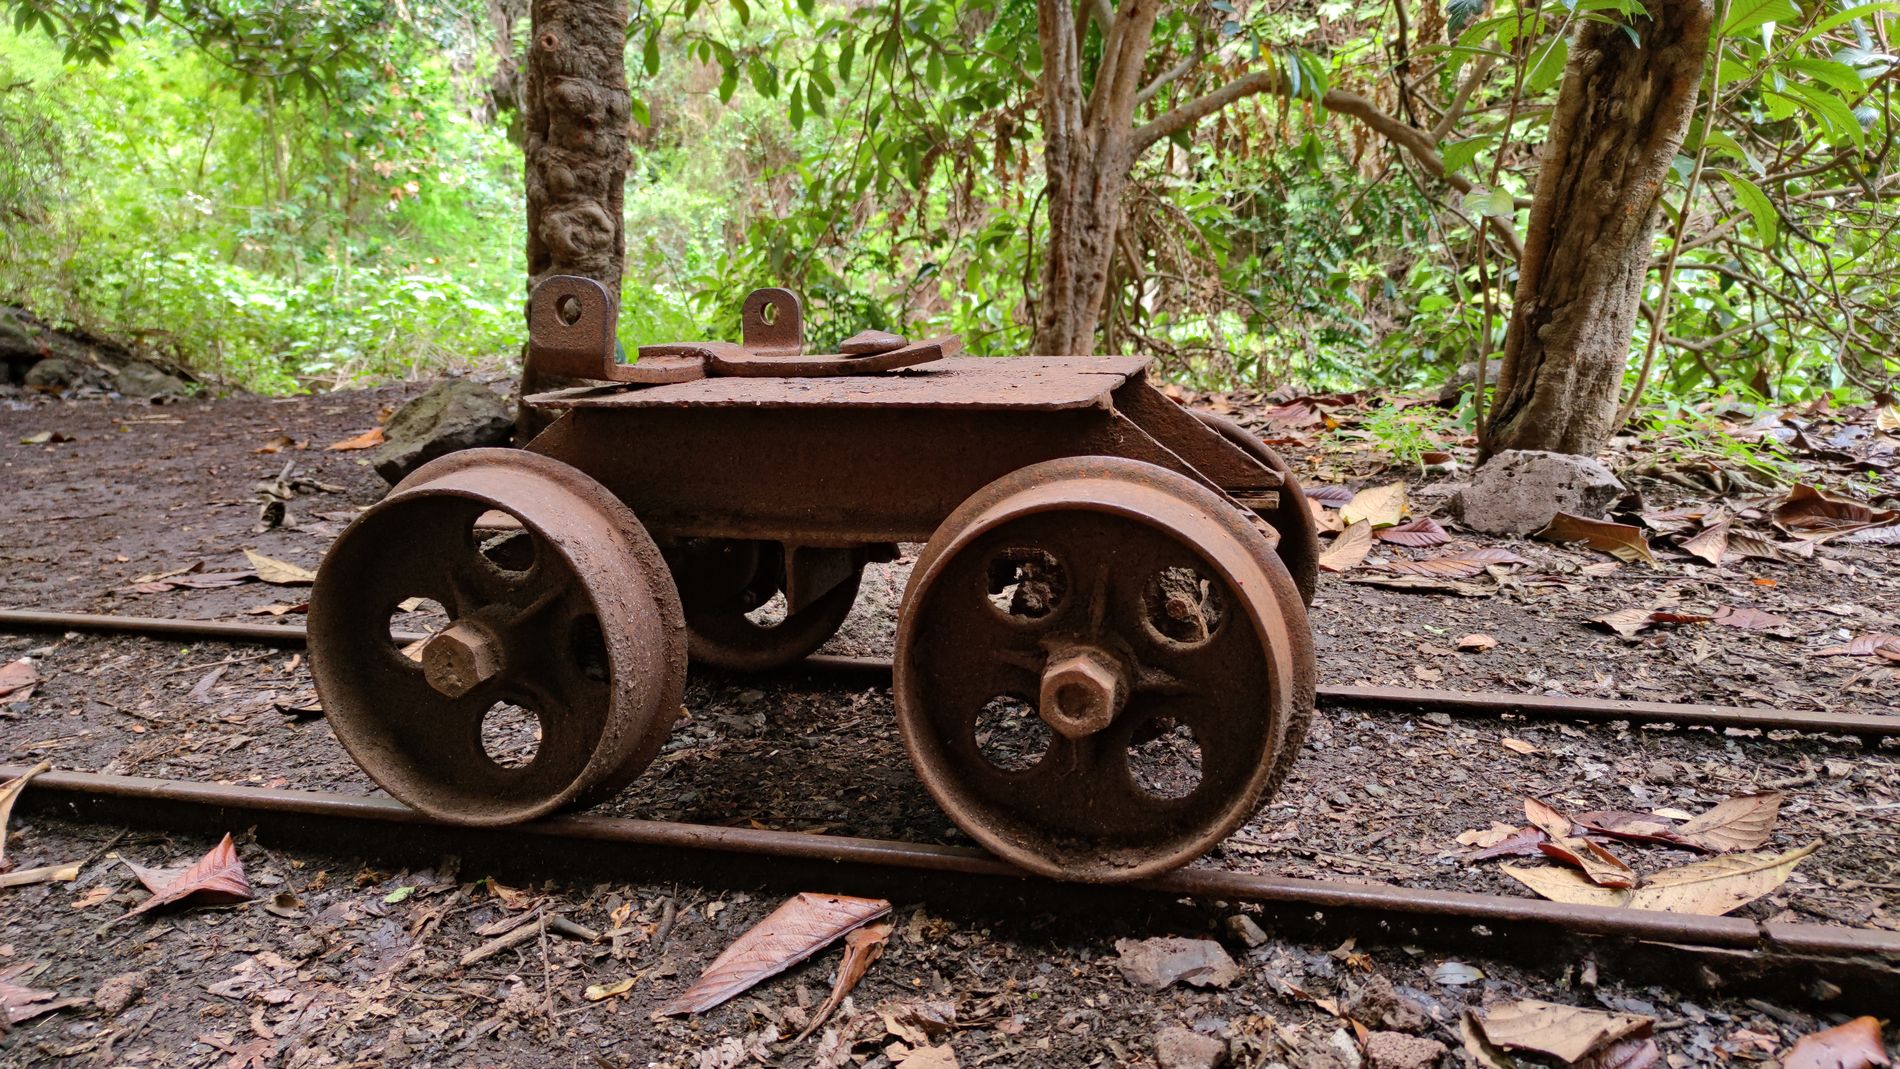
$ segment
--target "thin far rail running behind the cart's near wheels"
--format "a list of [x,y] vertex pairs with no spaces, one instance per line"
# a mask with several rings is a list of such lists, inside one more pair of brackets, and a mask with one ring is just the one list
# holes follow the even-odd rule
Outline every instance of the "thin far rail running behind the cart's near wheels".
[[[93,630],[118,634],[152,634],[177,638],[209,638],[226,642],[255,642],[264,646],[302,647],[306,634],[300,625],[125,617],[97,613],[48,613],[0,610],[0,630]],[[426,632],[395,632],[397,642],[428,638]],[[891,663],[882,657],[815,655],[794,666],[821,674],[863,674],[889,682]],[[1742,727],[1763,731],[1809,731],[1820,735],[1852,735],[1860,739],[1900,737],[1900,716],[1860,712],[1803,712],[1784,708],[1735,708],[1718,704],[1676,704],[1653,701],[1609,701],[1552,695],[1507,695],[1476,691],[1438,691],[1414,687],[1319,687],[1320,708],[1442,712],[1448,716],[1522,716],[1526,720],[1624,720],[1630,723],[1678,723],[1708,727]]]

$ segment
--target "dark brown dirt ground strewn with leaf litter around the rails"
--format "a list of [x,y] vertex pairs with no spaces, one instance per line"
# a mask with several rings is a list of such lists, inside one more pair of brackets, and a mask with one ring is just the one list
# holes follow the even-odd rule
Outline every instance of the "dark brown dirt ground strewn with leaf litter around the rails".
[[[374,427],[418,389],[167,406],[0,401],[0,606],[274,619],[270,608],[296,606],[302,587],[190,583],[247,570],[245,549],[315,568],[355,511],[384,490],[367,454],[325,446]],[[1235,408],[1226,399],[1214,404]],[[1351,437],[1288,431],[1265,403],[1239,404],[1237,414],[1279,435],[1305,482],[1362,488],[1406,478],[1414,515],[1444,518],[1457,467],[1429,477],[1391,467]],[[46,431],[70,441],[17,444]],[[1875,435],[1835,452],[1862,461],[1877,454],[1875,478],[1883,478],[1879,461],[1890,459],[1892,444],[1881,446]],[[1469,465],[1469,448],[1450,452]],[[1623,459],[1655,469],[1659,456],[1636,450]],[[256,484],[287,465],[293,480],[306,482],[289,503],[289,520],[260,530]],[[1718,499],[1685,482],[1693,480],[1638,486],[1651,511]],[[1759,509],[1765,497],[1742,492],[1727,503]],[[1528,564],[1461,592],[1383,589],[1360,581],[1374,575],[1366,570],[1324,575],[1311,611],[1320,682],[1900,710],[1894,663],[1822,653],[1862,634],[1900,634],[1900,549],[1892,545],[1835,539],[1813,558],[1744,558],[1721,568],[1659,547],[1659,564],[1649,568],[1583,545],[1452,532],[1459,543],[1505,547]],[[1381,543],[1374,562],[1436,553]],[[908,556],[866,573],[832,649],[887,653],[906,568]],[[1588,623],[1626,606],[1754,608],[1786,623],[1773,630],[1657,627],[1638,638]],[[1471,634],[1495,646],[1461,649]],[[0,704],[4,763],[44,758],[59,769],[374,790],[317,712],[296,653],[0,634],[0,665],[21,657],[32,659],[44,682],[30,699]],[[1786,885],[1738,915],[1900,928],[1900,748],[1837,737],[1322,714],[1286,786],[1203,864],[1530,894],[1495,862],[1467,864],[1457,835],[1522,824],[1526,797],[1573,813],[1702,813],[1761,790],[1786,796],[1767,849],[1820,847]],[[686,718],[661,758],[602,811],[967,843],[918,784],[887,687],[849,680],[695,672]],[[720,947],[770,913],[779,891],[680,885],[665,873],[509,889],[441,858],[380,870],[266,851],[245,841],[241,828],[232,832],[258,891],[255,902],[114,923],[144,896],[120,858],[184,864],[213,843],[15,815],[6,849],[15,864],[89,860],[78,881],[0,891],[0,976],[23,965],[15,984],[91,999],[108,978],[137,972],[144,991],[118,1012],[78,1006],[17,1025],[0,1037],[0,1060],[239,1069],[876,1067],[948,1042],[965,1067],[1121,1065],[1153,1063],[1155,1035],[1184,1027],[1224,1041],[1233,1063],[1355,1067],[1353,1033],[1332,1012],[1334,1001],[1353,1003],[1368,987],[1376,995],[1385,982],[1427,1010],[1429,1020],[1406,1031],[1454,1050],[1465,1006],[1509,997],[1653,1014],[1670,1065],[1759,1060],[1834,1023],[1775,1001],[1700,993],[1693,984],[1638,987],[1575,959],[1528,968],[1471,961],[1484,974],[1471,978],[1444,970],[1450,955],[1442,949],[1360,951],[1286,938],[1246,947],[1212,908],[1098,917],[1041,902],[1034,913],[986,915],[925,896],[897,902],[889,949],[830,1025],[790,1042],[823,1001],[836,951],[701,1018],[650,1020]],[[1617,849],[1645,872],[1695,860],[1662,847]],[[486,942],[484,927],[528,910],[619,934],[602,942],[549,934],[458,965]],[[1226,938],[1243,963],[1241,978],[1222,989],[1129,984],[1113,944],[1167,934]],[[621,995],[598,1003],[583,995],[627,978],[635,982]],[[1358,1018],[1368,1014],[1378,1016]],[[940,1027],[906,1023],[914,1020]]]

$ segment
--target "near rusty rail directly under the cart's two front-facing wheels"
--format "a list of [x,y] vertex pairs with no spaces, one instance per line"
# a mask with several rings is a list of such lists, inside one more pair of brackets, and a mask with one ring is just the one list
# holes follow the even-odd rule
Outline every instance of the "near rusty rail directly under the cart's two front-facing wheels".
[[[21,765],[0,765],[0,780],[17,777]],[[369,826],[416,826],[454,834],[475,830],[439,824],[388,797],[344,796],[302,790],[270,790],[188,780],[112,777],[97,773],[42,773],[21,797],[27,807],[57,809],[86,816],[78,803],[131,801],[114,813],[125,820],[163,820],[160,805],[171,803],[205,811],[258,816],[336,818]],[[530,837],[557,843],[614,843],[712,851],[726,854],[861,864],[885,870],[931,872],[973,877],[1003,877],[1053,885],[982,851],[849,835],[809,835],[760,828],[678,824],[669,820],[631,820],[618,816],[564,815],[486,830],[488,835]],[[1186,868],[1127,885],[1165,896],[1191,896],[1226,902],[1260,902],[1302,910],[1355,910],[1391,919],[1452,919],[1474,925],[1537,925],[1613,936],[1659,940],[1697,947],[1727,947],[1811,957],[1862,959],[1892,968],[1900,965],[1900,932],[1877,928],[1839,928],[1824,925],[1752,921],[1746,917],[1702,917],[1613,906],[1575,906],[1543,898],[1507,898],[1463,891],[1431,891],[1383,883],[1343,883],[1243,873],[1212,868]]]

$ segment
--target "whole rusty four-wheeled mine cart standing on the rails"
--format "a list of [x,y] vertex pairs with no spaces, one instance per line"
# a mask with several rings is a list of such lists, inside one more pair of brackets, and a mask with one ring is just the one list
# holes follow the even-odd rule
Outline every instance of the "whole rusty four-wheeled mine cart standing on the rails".
[[[923,549],[897,727],[996,854],[1155,875],[1286,777],[1313,712],[1305,499],[1146,359],[960,359],[956,338],[882,332],[806,355],[798,298],[768,289],[741,344],[623,365],[616,319],[598,283],[543,281],[528,359],[589,385],[524,399],[559,420],[522,450],[420,467],[317,572],[317,689],[391,796],[458,824],[606,801],[659,752],[688,659],[804,659],[901,543]],[[418,598],[450,623],[401,647]],[[496,710],[532,718],[526,760],[484,744]]]

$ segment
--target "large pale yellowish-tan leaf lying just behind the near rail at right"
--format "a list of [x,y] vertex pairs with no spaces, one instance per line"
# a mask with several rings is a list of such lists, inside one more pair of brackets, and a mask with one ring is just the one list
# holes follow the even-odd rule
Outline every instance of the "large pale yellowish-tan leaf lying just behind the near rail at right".
[[1552,902],[1628,906],[1630,910],[1720,917],[1786,883],[1801,858],[1818,849],[1820,843],[1809,843],[1782,854],[1725,854],[1706,862],[1662,870],[1645,877],[1644,885],[1634,891],[1598,887],[1583,873],[1568,868],[1507,864],[1503,872]]

